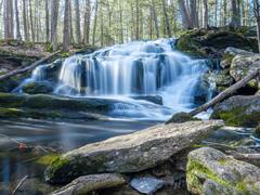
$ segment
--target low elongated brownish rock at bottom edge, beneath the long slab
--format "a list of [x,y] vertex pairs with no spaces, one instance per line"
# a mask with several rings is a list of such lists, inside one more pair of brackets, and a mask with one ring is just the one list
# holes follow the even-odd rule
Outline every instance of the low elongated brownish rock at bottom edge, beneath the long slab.
[[117,187],[126,183],[120,174],[103,173],[80,177],[66,186],[51,193],[52,195],[88,194],[93,191]]

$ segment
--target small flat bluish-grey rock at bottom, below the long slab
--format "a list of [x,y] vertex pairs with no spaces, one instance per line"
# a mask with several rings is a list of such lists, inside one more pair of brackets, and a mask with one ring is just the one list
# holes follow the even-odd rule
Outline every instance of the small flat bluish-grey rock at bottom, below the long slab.
[[138,192],[151,195],[161,188],[165,184],[165,181],[152,177],[145,177],[134,178],[130,184]]

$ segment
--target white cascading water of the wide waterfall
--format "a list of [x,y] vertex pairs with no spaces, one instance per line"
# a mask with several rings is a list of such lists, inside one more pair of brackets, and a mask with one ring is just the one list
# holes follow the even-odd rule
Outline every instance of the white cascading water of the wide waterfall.
[[[62,65],[54,93],[116,99],[120,102],[110,113],[116,117],[165,120],[172,113],[188,112],[208,67],[204,60],[174,51],[173,43],[173,39],[138,41],[70,56]],[[43,77],[38,70],[34,74]],[[134,95],[160,95],[164,106],[129,98]]]

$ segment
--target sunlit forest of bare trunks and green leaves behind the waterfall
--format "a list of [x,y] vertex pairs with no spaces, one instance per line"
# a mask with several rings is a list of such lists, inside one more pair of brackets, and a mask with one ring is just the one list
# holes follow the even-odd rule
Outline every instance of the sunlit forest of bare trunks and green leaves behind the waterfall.
[[[257,5],[256,5],[257,4]],[[258,0],[0,0],[0,38],[99,47],[256,26]]]

